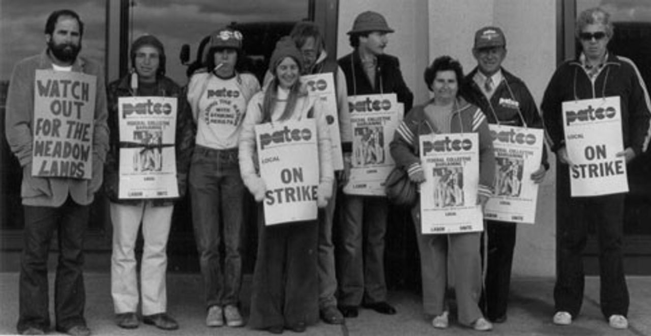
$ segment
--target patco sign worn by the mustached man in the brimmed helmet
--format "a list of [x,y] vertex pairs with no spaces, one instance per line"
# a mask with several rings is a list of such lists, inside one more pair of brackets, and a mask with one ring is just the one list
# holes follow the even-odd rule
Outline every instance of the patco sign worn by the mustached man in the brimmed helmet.
[[402,120],[404,106],[395,93],[349,96],[353,128],[352,169],[344,193],[384,196],[384,182],[395,162],[389,143]]

